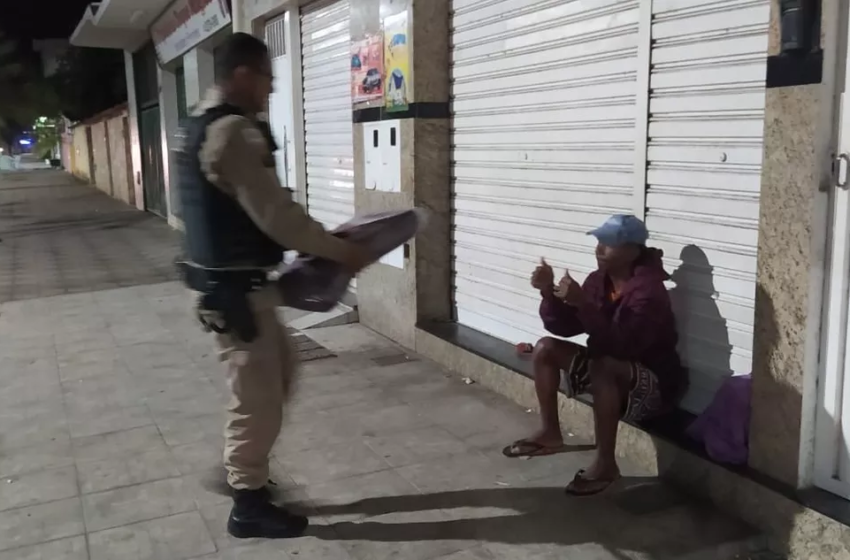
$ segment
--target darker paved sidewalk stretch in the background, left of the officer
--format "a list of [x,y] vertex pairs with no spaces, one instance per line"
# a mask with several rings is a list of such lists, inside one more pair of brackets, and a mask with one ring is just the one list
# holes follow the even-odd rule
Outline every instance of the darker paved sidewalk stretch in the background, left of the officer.
[[61,171],[0,173],[0,302],[175,280],[165,220]]

